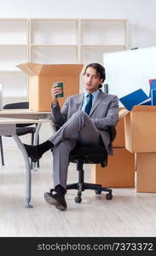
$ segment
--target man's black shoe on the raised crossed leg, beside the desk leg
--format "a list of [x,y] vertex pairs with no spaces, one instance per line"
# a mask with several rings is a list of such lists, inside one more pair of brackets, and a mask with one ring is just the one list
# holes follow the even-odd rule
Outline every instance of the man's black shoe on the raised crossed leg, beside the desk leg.
[[27,145],[27,144],[23,144],[24,147],[26,148],[26,152],[28,154],[28,156],[31,158],[32,162],[36,163],[38,162],[38,160],[42,157],[42,154],[39,152],[38,150],[38,145]]

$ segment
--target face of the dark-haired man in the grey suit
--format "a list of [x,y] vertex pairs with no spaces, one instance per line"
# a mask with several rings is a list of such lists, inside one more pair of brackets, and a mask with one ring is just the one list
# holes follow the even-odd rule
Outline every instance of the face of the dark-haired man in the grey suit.
[[99,74],[96,73],[95,68],[88,67],[84,74],[84,88],[88,93],[98,90],[99,84],[102,84],[103,79],[100,79]]

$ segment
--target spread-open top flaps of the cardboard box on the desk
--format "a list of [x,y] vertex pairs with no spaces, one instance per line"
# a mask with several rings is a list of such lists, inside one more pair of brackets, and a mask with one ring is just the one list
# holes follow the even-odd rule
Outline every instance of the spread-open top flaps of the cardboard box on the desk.
[[[23,72],[28,75],[39,76],[78,76],[84,67],[83,64],[38,64],[38,63],[22,63],[18,65]],[[58,81],[59,82],[59,81]]]

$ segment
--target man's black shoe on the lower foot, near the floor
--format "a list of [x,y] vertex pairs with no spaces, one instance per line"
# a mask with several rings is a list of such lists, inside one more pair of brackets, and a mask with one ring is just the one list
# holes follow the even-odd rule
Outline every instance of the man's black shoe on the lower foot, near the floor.
[[53,194],[53,193],[45,192],[44,199],[49,205],[55,206],[57,209],[59,209],[61,211],[65,211],[67,208],[65,195],[59,195],[57,193]]

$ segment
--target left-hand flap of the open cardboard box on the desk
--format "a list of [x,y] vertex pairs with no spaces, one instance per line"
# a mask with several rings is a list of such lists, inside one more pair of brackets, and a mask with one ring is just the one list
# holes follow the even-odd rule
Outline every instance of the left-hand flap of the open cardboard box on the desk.
[[24,73],[28,75],[39,75],[41,73],[41,69],[43,67],[42,64],[27,62],[17,65]]

